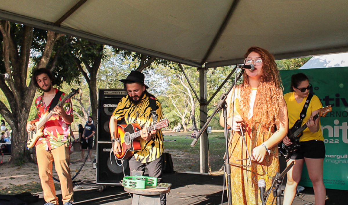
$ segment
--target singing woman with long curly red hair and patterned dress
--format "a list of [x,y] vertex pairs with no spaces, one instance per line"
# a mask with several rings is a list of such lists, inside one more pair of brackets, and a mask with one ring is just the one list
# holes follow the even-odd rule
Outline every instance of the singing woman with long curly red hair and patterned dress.
[[[274,57],[259,47],[249,48],[244,57],[244,63],[254,69],[244,71],[243,83],[226,99],[227,124],[233,130],[229,140],[232,204],[261,205],[258,182],[263,179],[269,189],[279,172],[277,144],[287,133],[287,110]],[[224,126],[223,114],[220,124]],[[273,199],[271,193],[266,204]]]

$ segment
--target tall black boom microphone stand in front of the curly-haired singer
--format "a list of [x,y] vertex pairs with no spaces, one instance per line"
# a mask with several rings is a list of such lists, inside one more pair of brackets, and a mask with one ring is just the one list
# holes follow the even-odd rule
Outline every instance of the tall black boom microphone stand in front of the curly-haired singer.
[[[237,69],[237,66],[234,68],[234,70]],[[217,103],[217,106],[213,112],[213,114],[207,119],[207,122],[203,125],[203,127],[200,129],[199,133],[196,135],[196,138],[192,141],[191,147],[194,147],[202,135],[202,133],[206,130],[208,124],[213,119],[215,114],[219,112],[221,109],[223,109],[223,118],[224,118],[224,137],[226,142],[226,160],[225,160],[225,167],[226,167],[226,174],[227,174],[227,198],[228,198],[228,204],[232,204],[232,192],[231,192],[231,166],[229,162],[229,155],[228,155],[228,129],[227,129],[227,103],[226,98],[228,93],[232,90],[232,88],[236,85],[236,82],[239,80],[239,78],[243,75],[243,72],[240,72],[238,75],[238,78],[235,78],[235,83],[228,89],[228,91],[220,97],[220,101]]]

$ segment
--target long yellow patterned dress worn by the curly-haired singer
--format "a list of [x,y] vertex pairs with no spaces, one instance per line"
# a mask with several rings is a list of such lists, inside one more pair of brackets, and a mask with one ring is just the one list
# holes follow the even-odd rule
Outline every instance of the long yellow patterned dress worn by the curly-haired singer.
[[[235,102],[234,114],[236,115],[240,113],[240,104],[238,99]],[[245,160],[248,158],[246,150],[248,150],[251,157],[253,148],[270,138],[275,132],[275,126],[266,128],[260,123],[253,122],[253,118],[243,119],[243,122],[242,129],[246,142],[243,141],[243,137],[240,136],[239,132],[232,132],[234,135],[231,136],[229,142],[232,204],[261,205],[258,181],[260,179],[266,181],[266,190],[271,187],[272,178],[275,177],[276,172],[279,172],[278,148],[277,146],[271,148],[270,154],[266,154],[262,163],[251,161],[250,167],[246,167],[250,165],[249,160]],[[244,160],[239,161],[239,159]],[[272,204],[273,199],[271,192],[266,204]]]

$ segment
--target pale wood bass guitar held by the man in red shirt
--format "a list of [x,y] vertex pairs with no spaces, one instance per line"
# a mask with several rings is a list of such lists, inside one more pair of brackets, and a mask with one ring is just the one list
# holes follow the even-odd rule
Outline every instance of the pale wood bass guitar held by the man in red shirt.
[[[71,90],[72,91],[68,95],[66,95],[62,99],[62,101],[60,101],[58,103],[57,106],[61,107],[65,103],[66,100],[68,100],[69,98],[72,98],[74,95],[79,93],[79,89],[75,90],[72,88]],[[52,112],[46,112],[44,115],[41,116],[39,121],[35,122],[35,129],[28,132],[28,140],[26,141],[26,146],[28,148],[34,147],[34,145],[36,144],[36,141],[38,141],[39,137],[44,135],[42,130],[44,130],[46,122],[49,120],[50,117],[52,117],[52,115],[53,115]]]

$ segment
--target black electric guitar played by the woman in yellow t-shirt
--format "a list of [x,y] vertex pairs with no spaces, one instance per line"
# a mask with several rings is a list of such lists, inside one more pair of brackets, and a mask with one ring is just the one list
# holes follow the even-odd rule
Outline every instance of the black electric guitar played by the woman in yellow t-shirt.
[[[316,120],[319,116],[325,117],[328,112],[331,112],[332,107],[331,105],[320,108],[319,112],[313,116],[313,120]],[[288,131],[287,137],[292,142],[291,145],[286,146],[284,142],[282,142],[282,146],[279,148],[279,152],[282,153],[285,157],[286,161],[289,161],[290,157],[292,156],[292,151],[295,151],[300,148],[300,137],[302,136],[302,132],[304,129],[307,128],[307,124],[305,123],[300,128],[295,125]]]

